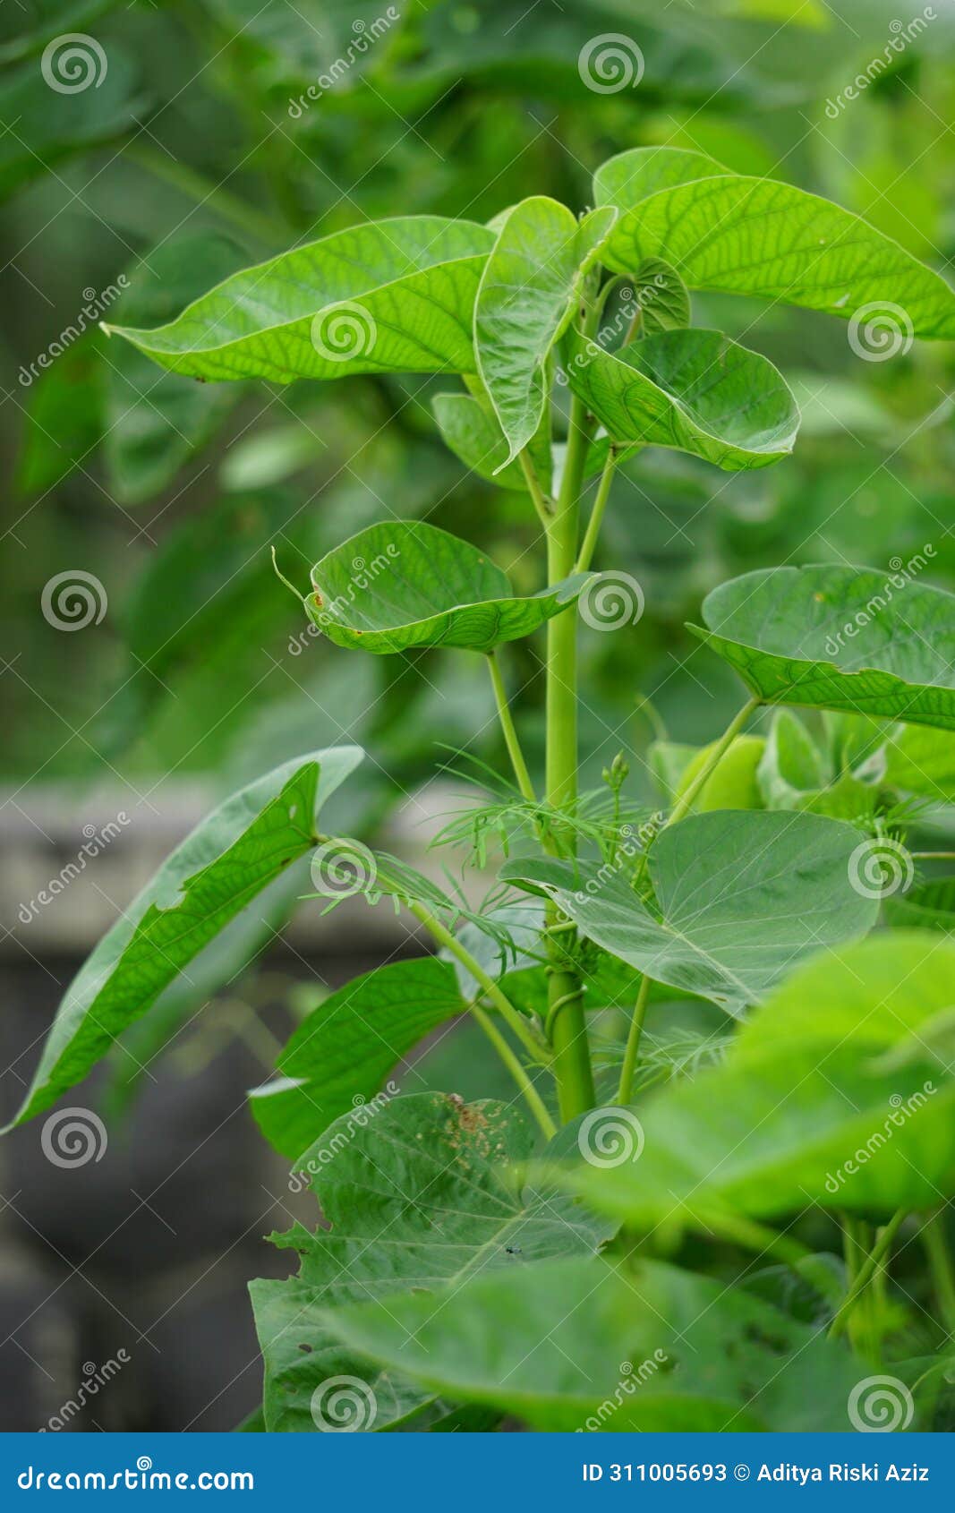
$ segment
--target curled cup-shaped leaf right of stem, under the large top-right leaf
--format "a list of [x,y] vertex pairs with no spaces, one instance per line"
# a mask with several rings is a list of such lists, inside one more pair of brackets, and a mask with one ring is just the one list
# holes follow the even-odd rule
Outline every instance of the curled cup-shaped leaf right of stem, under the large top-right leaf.
[[793,449],[799,412],[766,357],[719,331],[661,331],[616,353],[569,331],[565,366],[616,442],[672,446],[717,468],[766,468]]

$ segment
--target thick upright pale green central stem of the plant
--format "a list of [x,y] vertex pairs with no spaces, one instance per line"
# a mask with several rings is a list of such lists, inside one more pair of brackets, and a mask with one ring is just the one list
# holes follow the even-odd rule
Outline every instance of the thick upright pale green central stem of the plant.
[[[589,434],[586,410],[574,398],[560,495],[548,522],[548,583],[568,578],[577,561]],[[555,809],[571,808],[577,799],[577,616],[572,611],[548,622],[546,799]],[[548,923],[560,923],[555,908],[548,909]],[[593,1070],[580,976],[568,964],[558,938],[548,937],[548,950],[554,1074],[560,1115],[566,1121],[593,1108]]]

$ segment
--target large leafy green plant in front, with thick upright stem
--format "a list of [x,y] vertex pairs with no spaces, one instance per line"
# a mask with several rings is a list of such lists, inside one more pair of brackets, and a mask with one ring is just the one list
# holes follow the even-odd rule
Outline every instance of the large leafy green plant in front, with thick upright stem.
[[[465,847],[446,885],[322,832],[357,747],[235,794],[89,958],[17,1120],[215,937],[242,949],[251,899],[289,876],[307,891],[304,858],[328,906],[363,894],[419,921],[437,953],[321,1003],[251,1100],[331,1226],[277,1236],[298,1277],[253,1283],[269,1430],[486,1428],[504,1413],[546,1430],[858,1427],[863,1366],[888,1357],[901,1415],[923,1418],[946,1369],[944,1330],[926,1337],[887,1266],[955,1177],[955,953],[931,927],[955,881],[913,887],[928,858],[904,844],[920,802],[955,797],[955,601],[914,581],[925,561],[888,583],[781,567],[717,589],[696,634],[749,697],[702,752],[657,743],[657,812],[628,797],[622,755],[578,791],[577,637],[578,611],[596,632],[640,617],[633,578],[593,572],[624,458],[663,446],[757,469],[796,439],[784,378],[692,327],[689,290],[828,312],[855,340],[876,318],[952,337],[955,295],[849,212],[699,153],[627,151],[593,198],[580,219],[533,197],[490,225],[359,225],[233,274],[157,330],[107,327],[200,380],[462,375],[437,427],[524,499],[546,549],[536,593],[424,522],[371,525],[315,564],[304,613],[345,652],[486,658],[513,781],[478,775],[443,837]],[[501,651],[536,632],[542,784]],[[489,856],[478,903],[468,864]],[[601,1026],[625,999],[613,1042]],[[681,1039],[687,1006],[699,1027]],[[465,1012],[515,1104],[381,1092]],[[807,1212],[808,1241],[790,1233]],[[831,1216],[843,1262],[819,1250]],[[941,1218],[925,1239],[947,1328]],[[717,1247],[772,1268],[728,1285]]]

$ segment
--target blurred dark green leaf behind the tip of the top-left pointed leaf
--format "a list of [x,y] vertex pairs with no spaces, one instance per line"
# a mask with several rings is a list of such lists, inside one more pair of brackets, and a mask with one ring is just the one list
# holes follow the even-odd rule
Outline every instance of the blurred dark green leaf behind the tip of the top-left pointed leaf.
[[[241,262],[241,250],[222,236],[160,242],[127,269],[130,284],[110,319],[132,325],[168,321]],[[177,374],[157,374],[135,346],[114,343],[106,365],[104,448],[120,502],[141,504],[159,493],[239,399],[239,389],[197,387]]]

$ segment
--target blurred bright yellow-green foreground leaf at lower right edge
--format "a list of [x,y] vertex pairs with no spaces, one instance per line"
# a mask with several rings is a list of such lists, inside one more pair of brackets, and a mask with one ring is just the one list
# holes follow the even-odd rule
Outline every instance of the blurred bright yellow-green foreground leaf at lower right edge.
[[955,1191],[953,1003],[955,947],[931,930],[823,952],[720,1067],[640,1106],[639,1160],[568,1186],[640,1227],[934,1207]]

